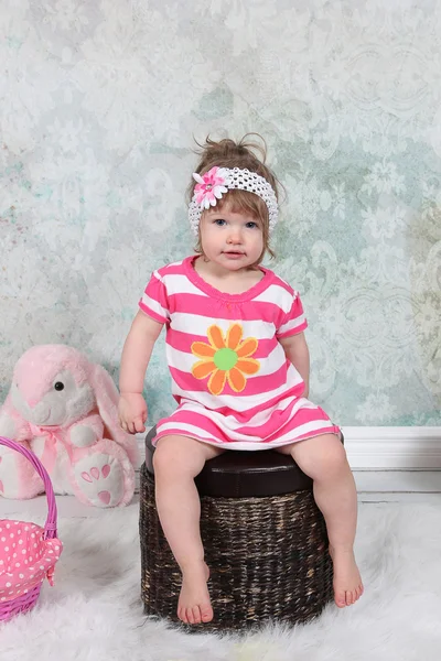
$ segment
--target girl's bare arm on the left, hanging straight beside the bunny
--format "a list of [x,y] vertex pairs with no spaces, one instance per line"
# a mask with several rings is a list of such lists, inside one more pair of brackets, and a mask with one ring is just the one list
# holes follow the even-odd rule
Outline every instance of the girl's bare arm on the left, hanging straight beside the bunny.
[[147,404],[142,389],[147,366],[162,326],[139,311],[122,349],[118,413],[121,427],[130,434],[146,430]]

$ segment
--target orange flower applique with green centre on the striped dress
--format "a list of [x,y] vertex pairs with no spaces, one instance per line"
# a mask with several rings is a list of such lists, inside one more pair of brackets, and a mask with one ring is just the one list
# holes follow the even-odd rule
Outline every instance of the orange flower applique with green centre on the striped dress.
[[250,358],[257,349],[258,342],[255,337],[241,339],[244,329],[241,324],[232,324],[226,337],[222,328],[214,324],[207,330],[209,344],[194,342],[192,354],[201,358],[192,367],[192,375],[196,379],[208,379],[208,390],[212,394],[220,394],[226,381],[235,392],[241,392],[247,384],[246,376],[256,375],[260,362]]

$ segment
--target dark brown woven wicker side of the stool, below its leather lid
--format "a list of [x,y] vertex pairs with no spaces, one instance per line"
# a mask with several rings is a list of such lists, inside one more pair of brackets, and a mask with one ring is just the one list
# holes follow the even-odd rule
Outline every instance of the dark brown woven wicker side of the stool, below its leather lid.
[[[201,498],[201,534],[211,570],[212,622],[190,631],[247,630],[316,617],[333,598],[324,519],[311,489],[259,498]],[[141,468],[141,596],[144,611],[180,622],[181,573],[162,533],[154,480]]]

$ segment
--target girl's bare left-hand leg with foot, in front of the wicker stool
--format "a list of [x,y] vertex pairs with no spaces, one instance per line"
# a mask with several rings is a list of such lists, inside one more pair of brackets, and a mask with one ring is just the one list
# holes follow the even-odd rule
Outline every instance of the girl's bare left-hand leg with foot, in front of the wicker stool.
[[201,500],[194,478],[218,447],[189,438],[163,436],[153,454],[158,514],[162,530],[182,572],[178,617],[191,625],[213,619],[201,541]]

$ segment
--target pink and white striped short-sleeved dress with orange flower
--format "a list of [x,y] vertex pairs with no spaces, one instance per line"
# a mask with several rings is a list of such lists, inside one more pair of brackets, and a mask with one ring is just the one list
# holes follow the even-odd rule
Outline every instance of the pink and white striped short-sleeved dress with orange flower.
[[272,271],[241,294],[226,294],[193,268],[196,256],[154,271],[140,308],[166,326],[178,409],[157,424],[232,449],[266,449],[324,433],[326,413],[302,397],[304,383],[279,339],[306,328],[299,294]]

